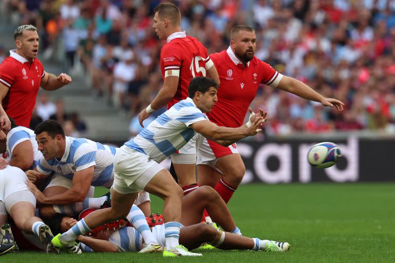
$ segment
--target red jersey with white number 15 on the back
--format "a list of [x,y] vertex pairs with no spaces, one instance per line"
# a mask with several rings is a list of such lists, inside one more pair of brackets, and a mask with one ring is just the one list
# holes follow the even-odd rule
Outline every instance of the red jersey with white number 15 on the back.
[[160,50],[160,70],[163,79],[179,76],[179,80],[177,91],[167,108],[185,100],[191,79],[206,76],[206,70],[212,65],[207,49],[197,39],[187,36],[185,31],[171,34]]

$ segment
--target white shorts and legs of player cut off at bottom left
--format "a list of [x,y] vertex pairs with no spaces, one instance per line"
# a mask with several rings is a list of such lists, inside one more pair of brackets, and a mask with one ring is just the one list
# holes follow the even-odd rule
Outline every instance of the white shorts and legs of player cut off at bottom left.
[[12,243],[17,249],[7,224],[8,215],[14,220],[17,228],[26,233],[34,233],[39,237],[47,253],[59,253],[58,248],[50,242],[53,238],[49,227],[35,213],[35,198],[25,184],[26,174],[17,167],[7,165],[0,170],[0,232],[2,244]]

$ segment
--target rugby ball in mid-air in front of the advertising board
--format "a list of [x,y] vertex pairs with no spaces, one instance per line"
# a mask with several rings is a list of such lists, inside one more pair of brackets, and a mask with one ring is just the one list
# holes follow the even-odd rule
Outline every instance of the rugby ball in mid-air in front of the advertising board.
[[313,145],[307,153],[307,160],[316,168],[328,168],[335,165],[337,157],[342,156],[337,144],[321,142]]

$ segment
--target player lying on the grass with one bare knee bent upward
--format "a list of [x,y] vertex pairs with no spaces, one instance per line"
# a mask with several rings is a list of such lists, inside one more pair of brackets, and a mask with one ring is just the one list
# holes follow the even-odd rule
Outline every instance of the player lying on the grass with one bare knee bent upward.
[[[212,214],[212,218],[216,222],[220,222],[224,230],[229,231],[223,232],[209,226],[207,223],[199,223],[204,209],[207,209]],[[133,208],[131,212],[133,212]],[[131,221],[129,218],[128,220]],[[179,232],[179,243],[189,250],[199,248],[202,243],[206,242],[222,250],[239,249],[286,252],[291,247],[288,242],[241,236],[238,234],[240,230],[236,227],[235,222],[232,219],[229,220],[229,218],[231,218],[229,210],[219,194],[209,186],[200,187],[183,199],[181,222],[185,227],[181,228]],[[76,223],[77,221],[75,219],[64,217],[61,226],[62,231],[73,227]],[[115,231],[102,231],[97,233],[96,238],[79,236],[78,240],[86,245],[80,245],[85,252],[139,251],[140,247],[144,247],[146,243],[145,238],[141,237],[136,230],[142,225],[145,224],[140,221],[140,225],[138,226],[133,223],[133,227],[125,226]],[[148,228],[148,224],[146,228]],[[230,233],[230,231],[234,233]],[[153,238],[161,246],[165,246],[164,224],[154,226],[152,228],[152,234]]]

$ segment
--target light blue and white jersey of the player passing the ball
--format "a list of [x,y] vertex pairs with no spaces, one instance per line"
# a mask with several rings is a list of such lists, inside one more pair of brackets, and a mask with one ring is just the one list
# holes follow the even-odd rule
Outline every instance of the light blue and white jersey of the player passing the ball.
[[189,125],[203,120],[206,115],[191,98],[179,101],[143,129],[125,146],[143,153],[160,163],[181,149],[196,132]]

